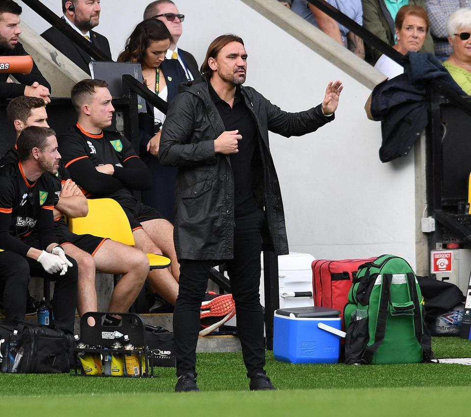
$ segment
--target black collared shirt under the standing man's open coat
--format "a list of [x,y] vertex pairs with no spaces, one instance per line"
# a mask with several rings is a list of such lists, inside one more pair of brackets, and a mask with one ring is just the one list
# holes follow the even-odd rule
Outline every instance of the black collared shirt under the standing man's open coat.
[[226,131],[238,130],[242,135],[237,143],[238,152],[232,154],[231,167],[234,173],[234,214],[240,217],[252,213],[257,208],[253,190],[252,164],[258,152],[258,131],[253,115],[245,105],[240,87],[235,88],[234,104],[229,106],[212,88],[208,80],[211,100],[221,116]]

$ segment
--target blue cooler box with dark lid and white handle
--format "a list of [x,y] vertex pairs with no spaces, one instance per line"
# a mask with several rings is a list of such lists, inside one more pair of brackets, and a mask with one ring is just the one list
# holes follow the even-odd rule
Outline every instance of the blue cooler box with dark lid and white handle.
[[[337,363],[340,311],[327,307],[283,308],[273,319],[273,354],[291,363]],[[334,334],[335,332],[335,334]]]

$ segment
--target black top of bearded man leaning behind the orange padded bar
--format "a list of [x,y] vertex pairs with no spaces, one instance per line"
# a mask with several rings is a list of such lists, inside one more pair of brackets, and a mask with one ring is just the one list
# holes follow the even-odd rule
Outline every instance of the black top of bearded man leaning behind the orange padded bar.
[[[0,56],[23,56],[28,53],[23,48],[23,45],[18,42],[13,49],[0,49]],[[49,88],[51,92],[51,85],[43,77],[41,71],[39,71],[36,63],[33,61],[33,69],[29,74],[11,74],[18,80],[17,83],[7,83],[6,80],[10,73],[0,73],[0,98],[14,98],[22,96],[25,92],[25,85],[31,85],[35,81]]]

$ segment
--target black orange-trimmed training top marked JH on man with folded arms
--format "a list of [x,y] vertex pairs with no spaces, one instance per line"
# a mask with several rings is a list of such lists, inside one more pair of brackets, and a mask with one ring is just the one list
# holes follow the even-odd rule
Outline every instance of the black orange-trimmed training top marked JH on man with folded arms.
[[[137,200],[131,191],[150,187],[149,169],[118,132],[92,135],[77,124],[57,141],[65,167],[87,197],[113,198],[132,207]],[[113,175],[97,171],[96,167],[105,164],[114,166]]]

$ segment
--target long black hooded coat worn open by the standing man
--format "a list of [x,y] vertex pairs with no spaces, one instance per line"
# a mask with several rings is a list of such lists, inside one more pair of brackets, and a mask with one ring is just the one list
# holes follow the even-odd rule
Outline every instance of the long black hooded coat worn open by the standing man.
[[[334,119],[320,105],[288,113],[251,87],[241,93],[258,128],[261,164],[253,169],[253,189],[264,209],[265,250],[288,253],[280,185],[270,154],[268,130],[289,137],[314,132]],[[185,83],[169,106],[160,138],[159,161],[178,166],[174,241],[179,259],[232,259],[234,176],[228,155],[214,153],[214,139],[225,131],[207,81]]]

